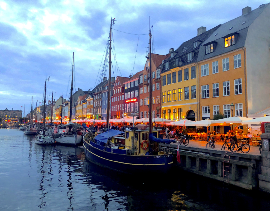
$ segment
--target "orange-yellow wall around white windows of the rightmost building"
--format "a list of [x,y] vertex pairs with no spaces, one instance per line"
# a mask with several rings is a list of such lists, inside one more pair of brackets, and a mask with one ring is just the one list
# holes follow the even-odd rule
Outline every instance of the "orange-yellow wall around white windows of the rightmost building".
[[[234,69],[234,55],[241,53],[241,67]],[[229,70],[222,71],[222,59],[229,58]],[[212,73],[212,62],[218,61],[218,73]],[[201,76],[201,65],[209,64],[209,75]],[[199,69],[199,89],[198,93],[202,92],[202,85],[209,84],[209,98],[203,98],[201,94],[199,97],[199,120],[202,120],[202,106],[210,106],[210,119],[213,118],[213,105],[220,106],[220,113],[224,113],[223,105],[233,103],[243,104],[243,116],[247,117],[246,112],[246,98],[245,98],[245,69],[244,69],[244,50],[238,49],[230,53],[216,56],[198,63]],[[234,93],[234,79],[242,79],[242,94],[235,95]],[[230,95],[223,96],[223,82],[230,81]],[[213,83],[219,83],[219,97],[213,97]],[[235,106],[232,113],[235,116]]]

